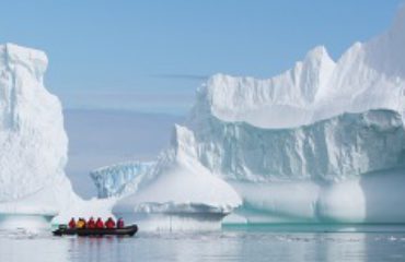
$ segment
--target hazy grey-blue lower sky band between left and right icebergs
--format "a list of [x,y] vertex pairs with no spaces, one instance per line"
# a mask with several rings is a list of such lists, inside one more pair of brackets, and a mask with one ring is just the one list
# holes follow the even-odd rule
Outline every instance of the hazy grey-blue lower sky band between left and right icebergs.
[[91,170],[126,162],[155,160],[182,117],[119,110],[63,111],[69,138],[66,174],[84,199],[96,195]]

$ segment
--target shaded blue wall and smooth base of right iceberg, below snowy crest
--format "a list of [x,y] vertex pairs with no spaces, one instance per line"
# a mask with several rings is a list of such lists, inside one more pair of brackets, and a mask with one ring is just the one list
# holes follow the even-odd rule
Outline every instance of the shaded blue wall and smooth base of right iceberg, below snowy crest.
[[378,177],[382,184],[374,187],[375,191],[400,200],[405,196],[402,190],[391,191],[398,188],[390,190],[392,183],[385,182],[404,181],[390,175],[393,170],[396,176],[405,175],[405,128],[396,111],[344,114],[276,130],[216,118],[206,121],[205,128],[194,132],[196,157],[241,195],[243,206],[236,214],[246,223],[383,223],[405,218],[390,212],[379,218],[364,212],[355,214],[371,203],[366,198],[366,192],[372,192],[366,187],[370,177]]

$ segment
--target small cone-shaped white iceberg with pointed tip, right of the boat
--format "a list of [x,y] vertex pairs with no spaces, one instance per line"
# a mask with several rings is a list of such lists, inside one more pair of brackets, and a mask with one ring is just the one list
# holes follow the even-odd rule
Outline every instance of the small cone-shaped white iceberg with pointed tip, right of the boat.
[[116,216],[146,229],[215,229],[242,201],[234,189],[196,160],[193,133],[176,126],[172,147],[137,187],[117,202]]

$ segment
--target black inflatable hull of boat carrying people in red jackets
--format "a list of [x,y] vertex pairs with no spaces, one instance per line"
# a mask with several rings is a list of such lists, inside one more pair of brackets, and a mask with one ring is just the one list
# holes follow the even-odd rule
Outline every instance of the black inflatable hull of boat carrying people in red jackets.
[[68,228],[59,226],[54,230],[54,236],[78,235],[78,236],[130,236],[132,237],[138,231],[137,225],[131,225],[123,228]]

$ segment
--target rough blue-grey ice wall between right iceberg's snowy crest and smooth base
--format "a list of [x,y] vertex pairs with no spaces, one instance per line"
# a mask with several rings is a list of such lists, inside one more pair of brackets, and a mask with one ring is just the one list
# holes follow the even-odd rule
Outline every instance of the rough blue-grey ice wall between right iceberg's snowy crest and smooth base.
[[284,130],[211,117],[194,133],[199,162],[227,180],[326,182],[405,166],[404,123],[391,110]]

